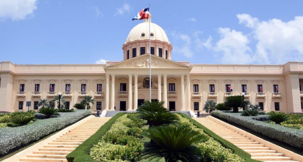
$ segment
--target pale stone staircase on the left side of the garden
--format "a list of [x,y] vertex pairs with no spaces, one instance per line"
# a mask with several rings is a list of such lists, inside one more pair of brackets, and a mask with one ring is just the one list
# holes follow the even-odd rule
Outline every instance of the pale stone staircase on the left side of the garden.
[[20,161],[38,161],[38,162],[67,162],[65,156],[75,150],[87,138],[93,135],[110,117],[92,117],[83,124],[70,129],[59,138],[56,138],[43,148],[27,154],[20,158]]

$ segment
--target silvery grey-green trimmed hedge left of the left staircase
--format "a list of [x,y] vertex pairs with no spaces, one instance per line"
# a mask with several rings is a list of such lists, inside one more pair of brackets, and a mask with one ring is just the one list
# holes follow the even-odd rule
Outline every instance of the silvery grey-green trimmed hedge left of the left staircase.
[[72,113],[60,113],[60,116],[56,118],[37,120],[29,125],[1,128],[0,154],[6,154],[13,148],[38,140],[91,115],[91,113],[91,110],[76,110]]

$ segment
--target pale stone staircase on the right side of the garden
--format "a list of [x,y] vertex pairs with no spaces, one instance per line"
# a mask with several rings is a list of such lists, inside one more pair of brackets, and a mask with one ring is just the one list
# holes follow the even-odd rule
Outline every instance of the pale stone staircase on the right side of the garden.
[[233,143],[237,147],[251,154],[251,158],[265,162],[299,162],[292,160],[291,157],[284,156],[283,153],[272,150],[270,147],[265,147],[260,141],[255,141],[241,133],[228,128],[227,126],[218,123],[209,118],[193,118],[218,136]]

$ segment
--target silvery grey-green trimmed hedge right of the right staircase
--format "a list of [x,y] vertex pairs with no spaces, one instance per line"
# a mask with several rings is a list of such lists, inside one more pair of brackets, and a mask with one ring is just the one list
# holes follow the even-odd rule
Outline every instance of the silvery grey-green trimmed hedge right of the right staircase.
[[[278,124],[270,124],[254,120],[251,117],[241,116],[241,113],[213,111],[211,116],[225,119],[229,122],[244,126],[269,138],[276,139],[297,148],[303,148],[303,131],[291,129]],[[260,117],[263,118],[263,117]]]

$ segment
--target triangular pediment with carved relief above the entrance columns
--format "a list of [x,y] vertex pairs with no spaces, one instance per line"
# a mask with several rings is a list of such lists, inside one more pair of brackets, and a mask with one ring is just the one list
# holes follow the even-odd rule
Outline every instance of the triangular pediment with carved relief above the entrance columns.
[[[106,68],[149,68],[149,55],[144,54],[121,62],[117,62],[104,67],[104,69]],[[192,68],[192,67],[185,64],[181,64],[179,62],[164,59],[162,57],[151,55],[151,68]]]

